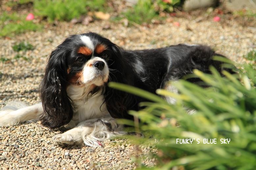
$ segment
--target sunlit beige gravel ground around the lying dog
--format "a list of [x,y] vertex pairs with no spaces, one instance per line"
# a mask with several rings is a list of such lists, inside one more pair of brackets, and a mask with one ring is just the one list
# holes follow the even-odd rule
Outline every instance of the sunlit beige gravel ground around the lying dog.
[[[167,20],[168,21],[168,20]],[[175,18],[149,27],[125,27],[109,21],[95,21],[88,26],[59,23],[45,26],[41,32],[28,32],[0,39],[0,108],[10,101],[27,104],[40,102],[38,84],[50,52],[69,34],[94,31],[127,49],[165,47],[178,43],[206,44],[231,60],[244,62],[242,56],[256,47],[256,30],[241,26],[236,20],[213,22],[212,19]],[[110,29],[106,26],[110,26]],[[35,46],[34,50],[14,52],[12,46],[21,41]],[[23,58],[15,59],[16,54]],[[144,165],[153,166],[155,160],[143,154],[156,150],[150,146],[132,145],[126,140],[106,141],[103,147],[85,145],[61,148],[51,141],[56,133],[39,123],[0,127],[0,169],[134,169],[132,157],[144,157]]]

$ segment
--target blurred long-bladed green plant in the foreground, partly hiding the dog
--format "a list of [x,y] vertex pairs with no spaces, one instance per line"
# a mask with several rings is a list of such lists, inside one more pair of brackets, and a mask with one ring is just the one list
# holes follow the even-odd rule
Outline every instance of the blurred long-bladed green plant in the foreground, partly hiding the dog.
[[[173,105],[135,87],[109,84],[153,102],[141,103],[146,106],[141,111],[130,111],[140,118],[140,123],[120,120],[134,125],[137,131],[149,133],[145,133],[144,138],[128,138],[136,143],[156,145],[158,153],[152,154],[157,159],[157,166],[150,169],[245,170],[256,167],[256,68],[254,65],[243,67],[241,81],[227,71],[223,71],[226,77],[220,77],[211,67],[212,75],[194,70],[197,77],[211,85],[209,88],[179,80],[170,83],[180,94],[157,90],[159,95],[175,98]],[[185,108],[196,113],[188,115]],[[193,142],[180,144],[182,139]],[[204,139],[208,142],[216,139],[216,144],[204,143]],[[224,144],[221,139],[230,142]],[[142,164],[139,167],[149,169]]]

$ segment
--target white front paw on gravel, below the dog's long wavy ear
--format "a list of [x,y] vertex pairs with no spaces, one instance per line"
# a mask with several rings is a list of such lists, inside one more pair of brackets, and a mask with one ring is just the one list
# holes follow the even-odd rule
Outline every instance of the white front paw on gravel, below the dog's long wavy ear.
[[72,138],[72,136],[70,134],[58,134],[55,135],[52,138],[53,142],[58,143],[58,145],[60,146],[70,146],[70,145],[74,145],[75,140]]

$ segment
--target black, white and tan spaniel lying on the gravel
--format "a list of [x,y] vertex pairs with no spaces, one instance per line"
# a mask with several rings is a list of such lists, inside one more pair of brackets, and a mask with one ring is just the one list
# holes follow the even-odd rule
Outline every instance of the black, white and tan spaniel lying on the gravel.
[[[0,110],[0,126],[40,120],[50,128],[70,129],[53,137],[59,145],[100,146],[100,141],[125,134],[115,119],[133,119],[128,110],[139,110],[138,103],[145,101],[108,87],[109,82],[152,93],[158,88],[177,92],[167,82],[193,69],[210,73],[212,65],[221,72],[222,63],[212,59],[215,55],[219,54],[201,45],[124,50],[93,32],[71,35],[49,56],[39,86],[41,103],[6,105]],[[175,104],[174,99],[166,101]]]

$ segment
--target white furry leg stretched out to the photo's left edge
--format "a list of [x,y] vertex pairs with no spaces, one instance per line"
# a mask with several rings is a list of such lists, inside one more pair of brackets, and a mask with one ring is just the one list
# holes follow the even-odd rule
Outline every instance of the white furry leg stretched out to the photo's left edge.
[[13,102],[0,109],[0,126],[15,125],[30,120],[38,120],[42,113],[42,104],[27,106],[21,102]]

